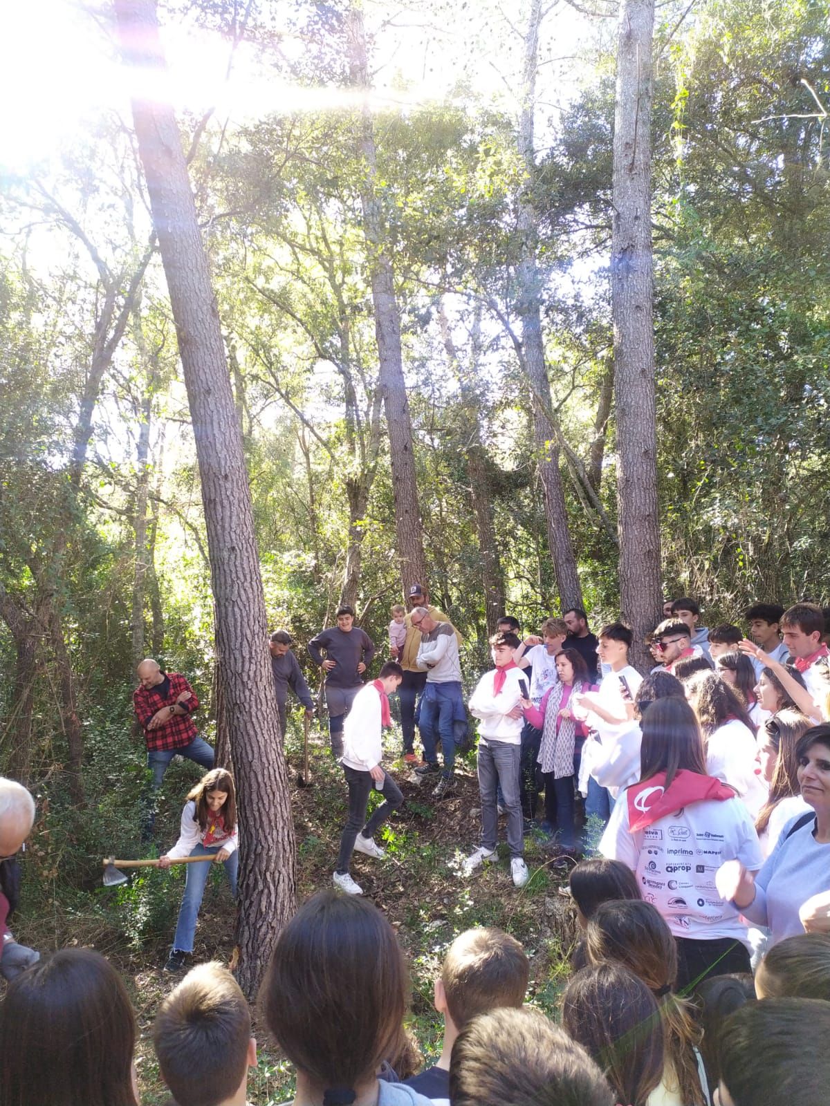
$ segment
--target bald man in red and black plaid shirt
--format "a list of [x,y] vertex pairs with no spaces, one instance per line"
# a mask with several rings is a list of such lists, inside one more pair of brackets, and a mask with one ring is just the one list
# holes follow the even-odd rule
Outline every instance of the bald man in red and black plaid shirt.
[[199,709],[199,700],[185,677],[165,672],[156,660],[147,658],[138,665],[138,679],[133,709],[147,742],[153,789],[162,786],[167,765],[176,754],[211,769],[214,750],[198,735],[190,717]]

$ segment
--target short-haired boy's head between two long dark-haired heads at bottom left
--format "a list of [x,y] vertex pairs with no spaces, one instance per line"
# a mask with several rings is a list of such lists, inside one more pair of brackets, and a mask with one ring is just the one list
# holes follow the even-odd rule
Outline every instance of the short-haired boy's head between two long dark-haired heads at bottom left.
[[218,963],[199,964],[167,995],[153,1025],[162,1078],[178,1106],[218,1106],[246,1077],[251,1015]]

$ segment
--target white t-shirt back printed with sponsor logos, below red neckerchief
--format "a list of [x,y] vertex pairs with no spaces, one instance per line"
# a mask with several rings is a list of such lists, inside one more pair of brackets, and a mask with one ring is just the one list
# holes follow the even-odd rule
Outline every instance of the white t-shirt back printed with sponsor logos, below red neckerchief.
[[675,937],[732,937],[749,948],[747,927],[715,887],[724,860],[740,860],[750,872],[762,864],[758,835],[739,799],[692,803],[632,833],[623,792],[600,852],[635,873],[643,898],[660,910]]

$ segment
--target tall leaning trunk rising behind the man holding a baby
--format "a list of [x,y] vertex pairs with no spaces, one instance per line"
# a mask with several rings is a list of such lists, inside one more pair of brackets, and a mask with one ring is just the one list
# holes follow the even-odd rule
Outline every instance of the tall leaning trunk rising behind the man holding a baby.
[[[369,61],[363,13],[359,9],[350,9],[346,29],[350,80],[355,88],[365,92],[369,90]],[[364,104],[361,113],[359,133],[359,148],[365,163],[361,188],[363,233],[366,239],[372,281],[380,386],[390,431],[397,556],[401,566],[401,581],[404,591],[406,591],[408,584],[426,580],[426,559],[424,557],[418,490],[415,480],[412,418],[401,353],[401,312],[395,294],[392,261],[385,248],[381,204],[376,190],[377,150],[372,113],[367,104]]]

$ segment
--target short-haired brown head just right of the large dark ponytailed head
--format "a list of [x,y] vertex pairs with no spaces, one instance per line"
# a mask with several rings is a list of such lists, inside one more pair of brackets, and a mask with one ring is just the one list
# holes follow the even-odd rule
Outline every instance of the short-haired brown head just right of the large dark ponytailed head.
[[500,929],[460,933],[447,950],[440,980],[457,1030],[499,1006],[521,1006],[530,964],[515,937]]

